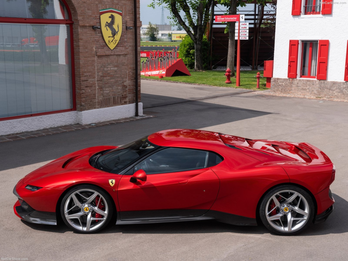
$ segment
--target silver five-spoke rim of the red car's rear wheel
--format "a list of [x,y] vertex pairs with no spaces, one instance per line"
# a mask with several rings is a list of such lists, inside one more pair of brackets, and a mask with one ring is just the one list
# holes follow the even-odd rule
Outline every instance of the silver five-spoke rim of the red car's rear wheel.
[[310,207],[306,198],[294,190],[281,190],[267,201],[267,222],[280,232],[301,229],[309,220]]

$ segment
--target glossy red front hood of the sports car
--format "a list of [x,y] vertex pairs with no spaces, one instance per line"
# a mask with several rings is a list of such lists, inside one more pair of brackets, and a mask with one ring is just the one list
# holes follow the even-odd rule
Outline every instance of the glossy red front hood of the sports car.
[[24,177],[23,183],[46,187],[46,183],[52,183],[52,179],[56,179],[57,176],[66,176],[67,173],[82,171],[100,172],[89,164],[89,158],[98,152],[115,148],[117,147],[98,146],[72,152],[29,173]]

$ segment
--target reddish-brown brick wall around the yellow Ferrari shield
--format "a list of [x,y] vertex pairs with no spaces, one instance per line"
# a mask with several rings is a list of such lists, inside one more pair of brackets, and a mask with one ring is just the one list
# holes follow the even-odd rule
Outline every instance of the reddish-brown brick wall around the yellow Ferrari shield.
[[[137,28],[134,6],[129,0],[66,0],[72,12],[75,62],[76,107],[78,111],[135,103],[134,30],[138,33],[140,54],[140,1],[137,0]],[[119,44],[110,50],[100,29],[99,10],[122,11]],[[127,30],[126,26],[133,26]],[[140,55],[136,65],[140,64]],[[139,101],[140,101],[140,70]]]

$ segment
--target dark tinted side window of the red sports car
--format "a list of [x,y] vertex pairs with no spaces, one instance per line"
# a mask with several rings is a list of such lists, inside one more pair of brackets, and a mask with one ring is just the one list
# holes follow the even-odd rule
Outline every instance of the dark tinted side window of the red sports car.
[[167,148],[141,161],[135,166],[134,171],[143,169],[146,174],[189,171],[214,166],[221,160],[219,156],[209,151]]

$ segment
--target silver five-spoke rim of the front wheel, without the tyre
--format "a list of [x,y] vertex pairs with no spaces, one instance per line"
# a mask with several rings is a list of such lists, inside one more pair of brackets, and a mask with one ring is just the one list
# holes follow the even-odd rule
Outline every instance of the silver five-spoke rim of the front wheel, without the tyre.
[[73,191],[64,203],[66,221],[76,230],[94,231],[106,221],[109,206],[105,198],[93,189]]

